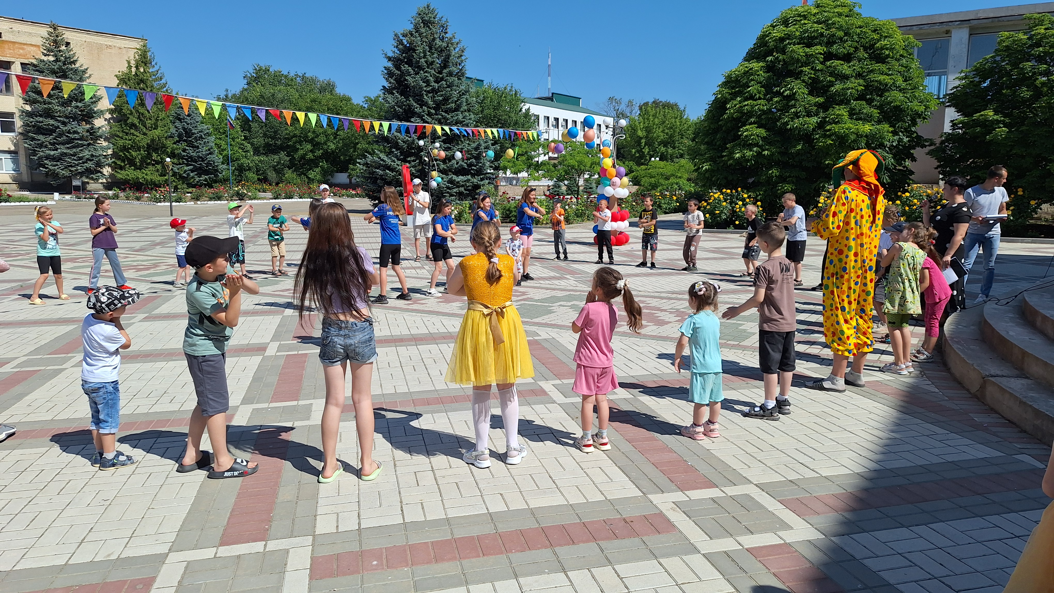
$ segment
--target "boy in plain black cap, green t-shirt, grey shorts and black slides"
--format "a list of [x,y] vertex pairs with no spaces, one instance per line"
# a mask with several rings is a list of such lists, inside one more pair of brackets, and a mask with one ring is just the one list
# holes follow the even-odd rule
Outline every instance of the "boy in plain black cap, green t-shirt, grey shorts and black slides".
[[[235,459],[227,450],[227,411],[231,396],[227,391],[227,343],[241,314],[241,292],[260,292],[256,282],[227,271],[231,252],[238,249],[238,237],[195,237],[187,245],[187,263],[195,269],[187,284],[187,331],[183,354],[194,379],[197,406],[191,414],[187,453],[177,472],[192,472],[212,466],[210,478],[245,477],[256,473],[256,463]],[[201,451],[201,435],[209,430],[215,459]]]

